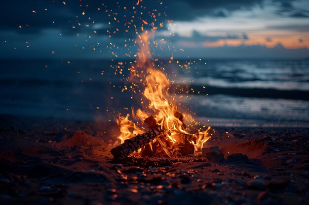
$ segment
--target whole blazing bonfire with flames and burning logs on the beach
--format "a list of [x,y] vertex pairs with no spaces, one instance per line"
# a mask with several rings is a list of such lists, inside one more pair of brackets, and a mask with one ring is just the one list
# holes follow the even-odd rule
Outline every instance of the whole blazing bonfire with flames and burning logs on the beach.
[[150,39],[153,37],[154,31],[138,35],[139,50],[129,78],[133,86],[145,88],[143,98],[148,103],[143,101],[144,106],[135,113],[132,110],[132,116],[149,130],[144,132],[141,126],[129,119],[129,115],[119,115],[117,123],[121,134],[118,139],[121,145],[111,150],[115,158],[124,158],[133,152],[164,153],[168,157],[194,154],[200,152],[211,137],[211,127],[204,131],[198,128],[193,116],[181,113],[175,98],[168,93],[170,83],[166,74],[155,68],[152,58]]

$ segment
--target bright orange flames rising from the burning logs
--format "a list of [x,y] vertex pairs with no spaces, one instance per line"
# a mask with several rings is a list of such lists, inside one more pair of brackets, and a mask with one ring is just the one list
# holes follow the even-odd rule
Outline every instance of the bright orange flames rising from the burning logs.
[[[178,108],[176,102],[171,100],[168,94],[170,84],[166,75],[162,71],[154,68],[153,58],[149,48],[149,39],[153,37],[154,31],[150,33],[145,31],[141,35],[138,35],[138,39],[136,40],[140,49],[137,53],[136,66],[133,65],[130,69],[130,80],[134,81],[134,79],[138,78],[138,82],[142,82],[145,87],[143,96],[149,104],[143,108],[144,111],[138,109],[135,116],[144,122],[147,117],[153,115],[158,122],[158,126],[168,131],[168,138],[174,143],[173,135],[177,133],[189,133],[185,130],[183,121],[174,115],[178,112]],[[146,112],[146,110],[149,112]],[[136,134],[142,133],[142,130],[130,121],[128,117],[128,115],[126,117],[119,115],[119,119],[117,120],[121,132],[118,138],[121,140],[121,143],[126,139],[134,137]],[[131,131],[132,129],[133,131]],[[196,151],[200,151],[203,144],[210,138],[208,136],[209,130],[210,127],[204,133],[200,132],[196,135],[196,143],[193,143]]]

